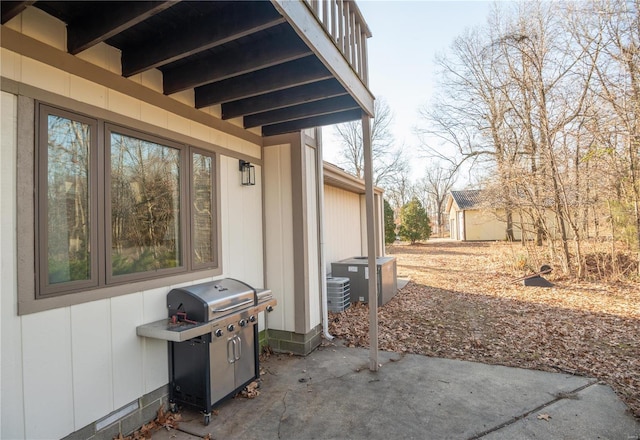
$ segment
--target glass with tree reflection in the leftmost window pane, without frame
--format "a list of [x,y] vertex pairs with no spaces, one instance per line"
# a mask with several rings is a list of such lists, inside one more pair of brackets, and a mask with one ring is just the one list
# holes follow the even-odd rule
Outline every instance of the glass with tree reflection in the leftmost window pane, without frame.
[[48,281],[57,284],[89,280],[91,127],[49,115],[47,128]]

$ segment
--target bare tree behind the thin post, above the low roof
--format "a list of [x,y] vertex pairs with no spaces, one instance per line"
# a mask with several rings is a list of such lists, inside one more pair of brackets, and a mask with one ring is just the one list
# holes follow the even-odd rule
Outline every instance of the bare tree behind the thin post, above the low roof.
[[[399,174],[409,170],[408,161],[402,148],[394,147],[391,133],[393,114],[386,101],[378,98],[374,104],[375,117],[371,127],[371,147],[373,178],[376,186],[390,185]],[[346,122],[335,126],[335,135],[342,149],[339,165],[358,179],[364,178],[364,150],[362,143],[362,123]]]

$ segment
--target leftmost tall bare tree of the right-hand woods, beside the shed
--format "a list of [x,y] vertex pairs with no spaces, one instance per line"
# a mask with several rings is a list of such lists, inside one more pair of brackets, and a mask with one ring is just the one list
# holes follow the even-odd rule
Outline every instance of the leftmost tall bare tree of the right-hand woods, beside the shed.
[[487,29],[465,32],[452,44],[451,55],[437,60],[443,92],[421,110],[425,125],[417,132],[423,154],[448,163],[452,173],[465,162],[489,167],[505,190],[506,233],[513,239],[512,195],[507,190],[519,143],[517,129],[510,124],[512,80],[495,44],[500,36],[493,34],[500,29],[498,12],[493,20]]

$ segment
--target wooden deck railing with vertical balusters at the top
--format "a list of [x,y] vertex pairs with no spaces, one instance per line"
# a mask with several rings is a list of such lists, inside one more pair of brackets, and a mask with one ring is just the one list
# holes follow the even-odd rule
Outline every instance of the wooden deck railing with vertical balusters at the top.
[[305,0],[327,35],[358,74],[369,85],[367,38],[371,31],[353,0]]

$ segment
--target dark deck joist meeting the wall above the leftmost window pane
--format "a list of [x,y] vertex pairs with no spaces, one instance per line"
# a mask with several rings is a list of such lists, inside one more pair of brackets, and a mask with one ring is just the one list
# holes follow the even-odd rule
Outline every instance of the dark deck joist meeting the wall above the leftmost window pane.
[[76,55],[177,3],[178,1],[110,2],[107,7],[96,10],[95,14],[67,24],[67,50]]

